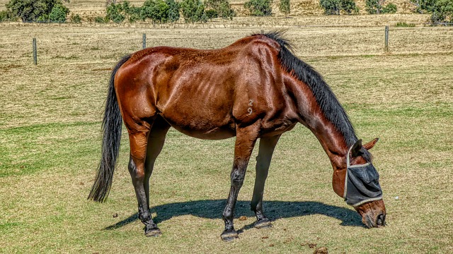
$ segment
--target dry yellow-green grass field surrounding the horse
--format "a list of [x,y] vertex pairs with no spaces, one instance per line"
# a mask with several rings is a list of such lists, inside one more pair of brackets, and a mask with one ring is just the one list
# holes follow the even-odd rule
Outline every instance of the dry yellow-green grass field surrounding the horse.
[[[265,188],[273,229],[254,229],[254,159],[224,243],[234,139],[171,129],[151,178],[163,236],[146,238],[127,172],[128,140],[107,202],[88,202],[100,158],[111,68],[148,45],[212,49],[260,29],[74,25],[0,27],[0,252],[2,253],[452,253],[453,28],[289,28],[296,54],[323,74],[381,175],[387,226],[365,229],[332,191],[318,141],[298,126],[277,145]],[[31,38],[38,40],[33,66]],[[252,158],[256,157],[256,151]]]

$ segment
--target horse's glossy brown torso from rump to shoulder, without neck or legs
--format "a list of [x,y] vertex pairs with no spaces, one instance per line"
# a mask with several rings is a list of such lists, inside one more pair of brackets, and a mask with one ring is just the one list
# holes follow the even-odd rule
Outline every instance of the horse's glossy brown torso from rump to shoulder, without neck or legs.
[[141,112],[130,112],[132,118],[161,114],[188,135],[228,138],[238,123],[253,123],[282,99],[277,54],[276,43],[263,37],[223,49],[144,49],[118,71],[117,94],[120,101],[134,98],[126,104]]

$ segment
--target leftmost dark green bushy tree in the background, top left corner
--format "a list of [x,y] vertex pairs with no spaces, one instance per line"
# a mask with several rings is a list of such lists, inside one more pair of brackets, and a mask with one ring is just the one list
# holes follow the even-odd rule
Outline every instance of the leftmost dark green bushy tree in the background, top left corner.
[[30,22],[38,19],[47,20],[52,8],[57,4],[62,5],[62,0],[9,0],[6,8],[23,22]]

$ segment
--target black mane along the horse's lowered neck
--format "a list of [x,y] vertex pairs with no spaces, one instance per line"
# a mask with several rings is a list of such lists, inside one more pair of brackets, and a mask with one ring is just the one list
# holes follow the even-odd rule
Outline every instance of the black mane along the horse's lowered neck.
[[[282,32],[268,32],[261,33],[260,35],[264,35],[280,44],[278,59],[282,63],[282,66],[285,67],[288,73],[292,73],[295,78],[309,86],[326,119],[335,126],[337,131],[343,134],[348,147],[354,145],[357,141],[357,136],[355,135],[354,127],[350,122],[348,114],[346,114],[345,109],[338,102],[331,87],[323,80],[321,74],[292,54],[292,46],[282,37]],[[369,159],[369,156],[366,156],[367,154],[368,152],[365,153],[365,157]]]

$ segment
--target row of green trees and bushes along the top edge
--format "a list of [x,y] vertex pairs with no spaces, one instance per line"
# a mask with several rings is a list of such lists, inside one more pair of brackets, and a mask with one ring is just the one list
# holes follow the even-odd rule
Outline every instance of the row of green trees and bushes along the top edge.
[[[365,10],[369,14],[396,13],[396,5],[386,0],[365,0]],[[453,22],[453,0],[410,0],[415,12],[431,13],[432,23]],[[6,11],[0,11],[0,21],[18,20],[23,22],[64,23],[69,8],[64,6],[69,0],[9,0]],[[251,16],[272,16],[273,0],[249,0],[244,8]],[[354,0],[319,0],[326,15],[355,15],[359,13]],[[290,0],[280,0],[280,11],[288,16],[291,13]],[[236,12],[229,0],[146,0],[142,6],[134,6],[130,1],[106,1],[106,15],[94,18],[97,23],[130,23],[138,20],[151,20],[152,23],[174,23],[183,17],[185,23],[207,22],[212,18],[232,19]],[[71,22],[81,23],[78,14],[71,14]]]

